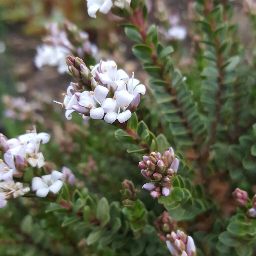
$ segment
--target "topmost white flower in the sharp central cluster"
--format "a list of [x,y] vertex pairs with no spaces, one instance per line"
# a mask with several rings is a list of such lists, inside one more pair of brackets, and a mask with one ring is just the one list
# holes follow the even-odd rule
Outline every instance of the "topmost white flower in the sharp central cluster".
[[101,61],[91,71],[93,77],[96,75],[96,71],[99,72],[99,79],[103,84],[107,85],[107,88],[112,87],[114,91],[118,88],[123,89],[124,82],[129,80],[129,76],[124,70],[117,70],[117,65],[114,61]]

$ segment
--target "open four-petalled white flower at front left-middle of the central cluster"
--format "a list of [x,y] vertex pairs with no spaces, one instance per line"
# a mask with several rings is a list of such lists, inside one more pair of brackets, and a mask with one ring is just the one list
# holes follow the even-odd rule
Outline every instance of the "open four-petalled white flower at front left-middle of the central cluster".
[[104,113],[114,109],[116,106],[114,99],[105,99],[108,93],[108,88],[98,85],[94,91],[82,92],[79,97],[79,104],[90,109],[90,117],[92,119],[102,119]]

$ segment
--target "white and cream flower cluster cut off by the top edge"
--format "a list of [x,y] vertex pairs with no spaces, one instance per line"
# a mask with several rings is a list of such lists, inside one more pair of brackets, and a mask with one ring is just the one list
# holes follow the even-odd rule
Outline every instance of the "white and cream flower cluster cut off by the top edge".
[[96,18],[96,12],[99,10],[101,13],[107,14],[112,8],[113,4],[118,8],[128,8],[131,0],[87,0],[88,15]]

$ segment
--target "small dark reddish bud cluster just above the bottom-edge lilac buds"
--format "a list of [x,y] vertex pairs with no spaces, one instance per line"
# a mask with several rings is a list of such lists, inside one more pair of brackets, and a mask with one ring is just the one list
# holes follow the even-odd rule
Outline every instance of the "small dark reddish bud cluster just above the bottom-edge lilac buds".
[[158,231],[158,237],[166,242],[170,240],[171,232],[177,229],[177,221],[168,215],[167,211],[164,211],[154,222],[155,228]]

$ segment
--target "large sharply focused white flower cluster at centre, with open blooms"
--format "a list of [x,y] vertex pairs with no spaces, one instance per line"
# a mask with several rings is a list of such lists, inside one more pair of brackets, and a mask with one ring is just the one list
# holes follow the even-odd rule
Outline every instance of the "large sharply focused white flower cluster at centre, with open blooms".
[[116,119],[127,121],[140,102],[140,93],[145,94],[145,86],[134,75],[129,78],[124,70],[118,70],[114,61],[100,61],[91,72],[82,64],[80,68],[91,77],[91,90],[79,92],[78,84],[70,84],[64,102],[57,102],[67,110],[66,118],[70,120],[71,113],[77,111],[84,119],[104,117],[110,124]]

